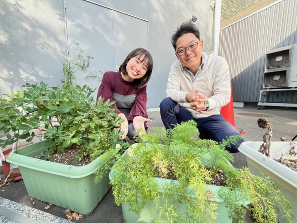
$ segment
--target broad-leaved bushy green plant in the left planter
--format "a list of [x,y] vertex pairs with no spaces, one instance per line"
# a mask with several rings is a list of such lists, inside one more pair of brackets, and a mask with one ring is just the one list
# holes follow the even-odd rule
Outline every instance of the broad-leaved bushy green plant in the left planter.
[[79,147],[78,162],[86,156],[93,161],[109,150],[116,154],[116,144],[122,142],[116,128],[123,120],[111,106],[114,102],[103,103],[101,98],[95,102],[94,90],[86,85],[70,89],[41,82],[23,87],[24,91],[1,99],[0,132],[7,133],[1,147],[43,136],[49,159],[71,146]]

